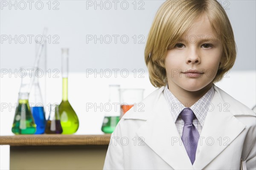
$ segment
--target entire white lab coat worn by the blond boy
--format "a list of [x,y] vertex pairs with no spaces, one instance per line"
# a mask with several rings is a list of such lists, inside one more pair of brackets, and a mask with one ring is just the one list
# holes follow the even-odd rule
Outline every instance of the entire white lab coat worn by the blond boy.
[[116,126],[103,169],[256,169],[256,115],[215,88],[192,165],[161,87],[131,108]]

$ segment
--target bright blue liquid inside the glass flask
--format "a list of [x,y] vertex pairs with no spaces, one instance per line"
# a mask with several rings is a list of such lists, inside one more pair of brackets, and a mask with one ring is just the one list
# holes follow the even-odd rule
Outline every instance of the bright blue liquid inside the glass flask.
[[43,134],[46,126],[44,107],[32,107],[32,115],[36,124],[35,134]]

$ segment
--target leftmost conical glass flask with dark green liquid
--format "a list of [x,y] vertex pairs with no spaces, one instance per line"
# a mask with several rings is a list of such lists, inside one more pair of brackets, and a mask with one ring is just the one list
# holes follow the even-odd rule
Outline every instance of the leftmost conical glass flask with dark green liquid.
[[36,125],[29,107],[29,93],[19,93],[18,106],[12,124],[12,133],[34,134]]

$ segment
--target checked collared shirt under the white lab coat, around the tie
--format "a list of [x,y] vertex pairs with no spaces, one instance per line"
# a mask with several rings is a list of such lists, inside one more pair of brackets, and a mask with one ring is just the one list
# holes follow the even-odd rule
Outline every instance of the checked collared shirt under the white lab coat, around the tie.
[[[198,130],[199,135],[201,134],[202,128],[204,126],[205,117],[208,112],[208,105],[212,101],[212,97],[214,95],[214,88],[210,88],[204,96],[202,96],[194,105],[190,107],[190,109],[195,113],[195,119],[193,120],[193,125]],[[180,117],[180,112],[186,108],[168,89],[168,85],[166,85],[163,95],[168,102],[169,108],[172,113],[172,118],[177,127],[178,133],[180,137],[182,136],[184,121]]]

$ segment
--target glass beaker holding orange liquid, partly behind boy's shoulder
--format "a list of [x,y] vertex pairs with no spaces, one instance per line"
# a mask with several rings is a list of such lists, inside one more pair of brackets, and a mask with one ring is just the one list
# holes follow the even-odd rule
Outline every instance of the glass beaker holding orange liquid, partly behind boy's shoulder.
[[[120,89],[121,117],[130,110],[135,103],[142,101],[144,89],[126,88]],[[136,108],[134,108],[136,110]],[[137,108],[139,110],[140,108]]]

